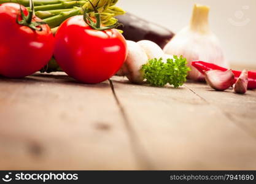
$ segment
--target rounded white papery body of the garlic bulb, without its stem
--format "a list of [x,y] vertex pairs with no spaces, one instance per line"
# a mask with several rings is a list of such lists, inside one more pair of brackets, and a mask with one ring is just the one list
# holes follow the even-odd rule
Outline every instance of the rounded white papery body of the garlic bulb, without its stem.
[[192,61],[200,60],[228,67],[223,56],[219,40],[212,34],[199,34],[189,27],[182,29],[163,49],[166,54],[187,58],[188,66],[192,71],[188,79],[200,80],[203,75],[191,66]]

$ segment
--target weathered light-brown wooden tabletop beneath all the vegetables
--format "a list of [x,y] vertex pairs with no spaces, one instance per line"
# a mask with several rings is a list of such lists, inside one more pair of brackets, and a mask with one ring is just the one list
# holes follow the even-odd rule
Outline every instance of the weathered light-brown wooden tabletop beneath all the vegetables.
[[0,79],[0,169],[256,169],[256,91]]

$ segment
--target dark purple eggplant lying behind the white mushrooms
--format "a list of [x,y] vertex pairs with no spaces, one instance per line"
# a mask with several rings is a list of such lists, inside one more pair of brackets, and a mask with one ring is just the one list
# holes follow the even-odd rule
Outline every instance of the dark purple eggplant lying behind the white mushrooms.
[[174,36],[174,33],[169,29],[143,20],[131,13],[119,15],[117,19],[119,23],[123,25],[118,29],[123,30],[123,36],[126,40],[132,40],[134,42],[138,42],[139,40],[151,40],[163,48]]

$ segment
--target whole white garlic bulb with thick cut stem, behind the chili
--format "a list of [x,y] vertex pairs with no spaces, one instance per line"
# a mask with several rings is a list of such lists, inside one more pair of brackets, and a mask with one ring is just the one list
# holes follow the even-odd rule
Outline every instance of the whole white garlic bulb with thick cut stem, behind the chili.
[[191,66],[192,61],[201,60],[228,67],[219,40],[209,29],[208,15],[208,6],[195,4],[190,25],[177,33],[164,48],[166,54],[187,58],[188,66],[192,69],[188,74],[189,79],[204,79],[204,76]]

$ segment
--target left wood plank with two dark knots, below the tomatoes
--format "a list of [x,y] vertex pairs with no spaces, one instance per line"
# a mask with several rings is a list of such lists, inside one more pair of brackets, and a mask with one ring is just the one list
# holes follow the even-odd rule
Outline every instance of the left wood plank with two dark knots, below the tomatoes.
[[0,79],[0,169],[138,169],[108,82]]

